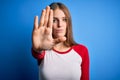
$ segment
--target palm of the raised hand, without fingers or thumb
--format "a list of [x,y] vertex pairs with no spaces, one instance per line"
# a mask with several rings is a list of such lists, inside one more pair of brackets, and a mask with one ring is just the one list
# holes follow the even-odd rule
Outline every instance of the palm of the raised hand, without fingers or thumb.
[[33,30],[33,43],[34,45],[37,45],[38,48],[40,47],[41,49],[51,49],[54,45],[52,29],[40,27]]

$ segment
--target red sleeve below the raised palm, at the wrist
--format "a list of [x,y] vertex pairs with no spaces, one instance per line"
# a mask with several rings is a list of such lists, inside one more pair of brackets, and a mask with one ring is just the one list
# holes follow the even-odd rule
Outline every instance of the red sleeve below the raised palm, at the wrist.
[[44,55],[45,55],[45,51],[42,51],[41,53],[39,52],[36,52],[35,50],[33,50],[33,48],[31,49],[31,52],[32,52],[32,56],[34,58],[36,58],[38,60],[38,64],[41,63],[41,61],[43,60],[44,58]]

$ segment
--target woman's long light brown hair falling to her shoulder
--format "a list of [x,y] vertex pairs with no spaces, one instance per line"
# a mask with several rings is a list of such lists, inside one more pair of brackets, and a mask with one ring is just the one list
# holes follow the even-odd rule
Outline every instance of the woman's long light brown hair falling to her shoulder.
[[73,39],[72,20],[71,20],[71,15],[69,13],[68,8],[60,2],[53,2],[49,6],[53,11],[56,9],[62,10],[67,18],[67,28],[66,28],[66,35],[65,35],[66,41],[64,42],[64,45],[67,47],[76,45],[77,43]]

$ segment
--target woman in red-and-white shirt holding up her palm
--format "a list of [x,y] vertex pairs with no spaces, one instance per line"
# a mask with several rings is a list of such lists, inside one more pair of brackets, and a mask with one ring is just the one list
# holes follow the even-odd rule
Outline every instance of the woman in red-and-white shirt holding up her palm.
[[35,17],[32,54],[42,80],[89,80],[88,50],[73,40],[71,16],[62,3],[43,9],[39,24]]

